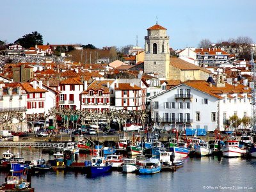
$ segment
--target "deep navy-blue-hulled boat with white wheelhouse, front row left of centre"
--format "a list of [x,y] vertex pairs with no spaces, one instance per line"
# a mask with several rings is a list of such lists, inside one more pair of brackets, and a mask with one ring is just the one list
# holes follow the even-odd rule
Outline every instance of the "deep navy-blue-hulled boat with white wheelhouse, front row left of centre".
[[90,173],[97,174],[110,172],[111,167],[112,163],[108,163],[105,157],[100,157],[99,152],[97,152],[97,156],[91,158],[91,165],[88,168]]

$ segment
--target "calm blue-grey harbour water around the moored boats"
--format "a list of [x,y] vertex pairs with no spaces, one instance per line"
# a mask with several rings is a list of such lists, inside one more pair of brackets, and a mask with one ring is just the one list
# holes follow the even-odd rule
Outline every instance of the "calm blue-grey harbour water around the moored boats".
[[[8,148],[1,148],[0,154]],[[12,148],[12,152],[19,152]],[[26,161],[53,159],[40,149],[22,148]],[[1,156],[1,155],[0,155]],[[90,159],[81,154],[79,161]],[[3,183],[8,173],[0,172]],[[102,175],[83,172],[49,171],[31,177],[35,191],[256,191],[256,159],[201,157],[184,159],[184,166],[176,172],[138,175],[113,171]]]

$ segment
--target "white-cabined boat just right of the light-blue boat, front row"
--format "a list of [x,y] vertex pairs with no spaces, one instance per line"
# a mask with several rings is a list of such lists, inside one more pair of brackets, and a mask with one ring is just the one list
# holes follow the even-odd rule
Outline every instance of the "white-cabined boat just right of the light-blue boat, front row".
[[165,166],[176,166],[177,168],[183,166],[184,161],[182,159],[175,159],[173,152],[164,151],[160,152],[160,162]]

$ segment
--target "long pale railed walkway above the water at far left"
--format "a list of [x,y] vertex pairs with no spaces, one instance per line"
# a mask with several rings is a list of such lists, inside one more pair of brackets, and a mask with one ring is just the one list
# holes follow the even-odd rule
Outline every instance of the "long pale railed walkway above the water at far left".
[[63,148],[65,143],[43,143],[43,142],[8,142],[1,141],[0,147],[36,147],[36,148]]

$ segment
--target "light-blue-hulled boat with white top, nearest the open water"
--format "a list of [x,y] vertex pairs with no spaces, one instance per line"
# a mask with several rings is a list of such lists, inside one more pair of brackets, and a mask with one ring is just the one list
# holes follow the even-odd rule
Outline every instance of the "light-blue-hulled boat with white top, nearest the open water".
[[150,158],[145,160],[139,168],[139,172],[141,174],[154,174],[154,173],[159,173],[160,171],[161,171],[161,163],[159,159],[156,159],[156,158]]

